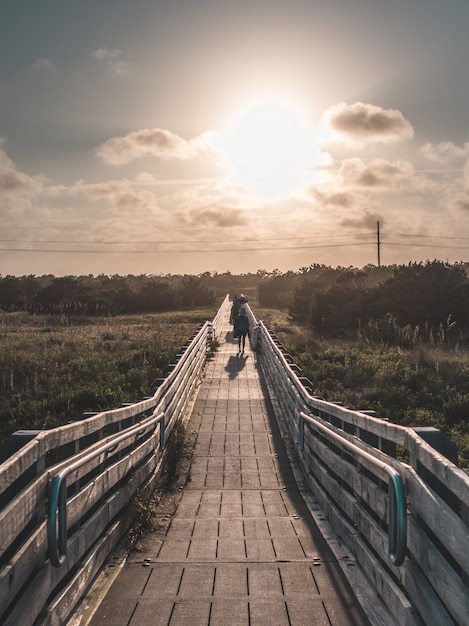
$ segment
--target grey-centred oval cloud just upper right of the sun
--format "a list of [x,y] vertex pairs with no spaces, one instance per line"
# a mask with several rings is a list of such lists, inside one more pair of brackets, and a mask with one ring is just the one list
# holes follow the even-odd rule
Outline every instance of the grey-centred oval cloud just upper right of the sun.
[[400,111],[364,102],[329,107],[320,128],[358,144],[396,143],[414,136],[412,125]]

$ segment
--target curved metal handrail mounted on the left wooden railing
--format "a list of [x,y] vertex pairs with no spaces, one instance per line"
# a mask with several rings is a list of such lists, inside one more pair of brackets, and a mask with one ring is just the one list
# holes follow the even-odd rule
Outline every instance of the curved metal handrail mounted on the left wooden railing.
[[160,450],[163,450],[165,445],[165,420],[164,413],[159,413],[128,428],[120,435],[88,452],[88,454],[80,456],[80,458],[64,467],[54,476],[49,488],[49,509],[47,514],[47,544],[50,562],[54,567],[61,567],[67,559],[67,476],[100,454],[114,451],[119,443],[130,439],[130,437],[142,434],[148,427],[153,426],[157,422],[161,422]]

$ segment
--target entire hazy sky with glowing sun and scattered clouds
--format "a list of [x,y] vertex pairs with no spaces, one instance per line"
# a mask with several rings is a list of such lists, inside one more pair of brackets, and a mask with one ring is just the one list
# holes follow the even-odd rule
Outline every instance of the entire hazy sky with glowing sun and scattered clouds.
[[468,26],[467,0],[2,0],[0,276],[469,261]]

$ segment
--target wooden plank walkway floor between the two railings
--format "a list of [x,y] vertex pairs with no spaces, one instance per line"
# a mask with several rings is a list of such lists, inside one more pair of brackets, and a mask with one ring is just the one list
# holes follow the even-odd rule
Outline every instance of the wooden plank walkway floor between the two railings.
[[298,491],[256,355],[224,330],[188,424],[190,479],[91,625],[369,624]]

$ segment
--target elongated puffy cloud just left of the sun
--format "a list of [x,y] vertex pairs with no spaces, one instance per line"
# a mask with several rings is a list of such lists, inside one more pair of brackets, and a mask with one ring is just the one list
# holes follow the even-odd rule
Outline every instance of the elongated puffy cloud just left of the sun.
[[169,130],[146,128],[109,139],[98,146],[96,154],[111,165],[124,165],[143,156],[186,160],[208,149],[205,135],[188,141]]

